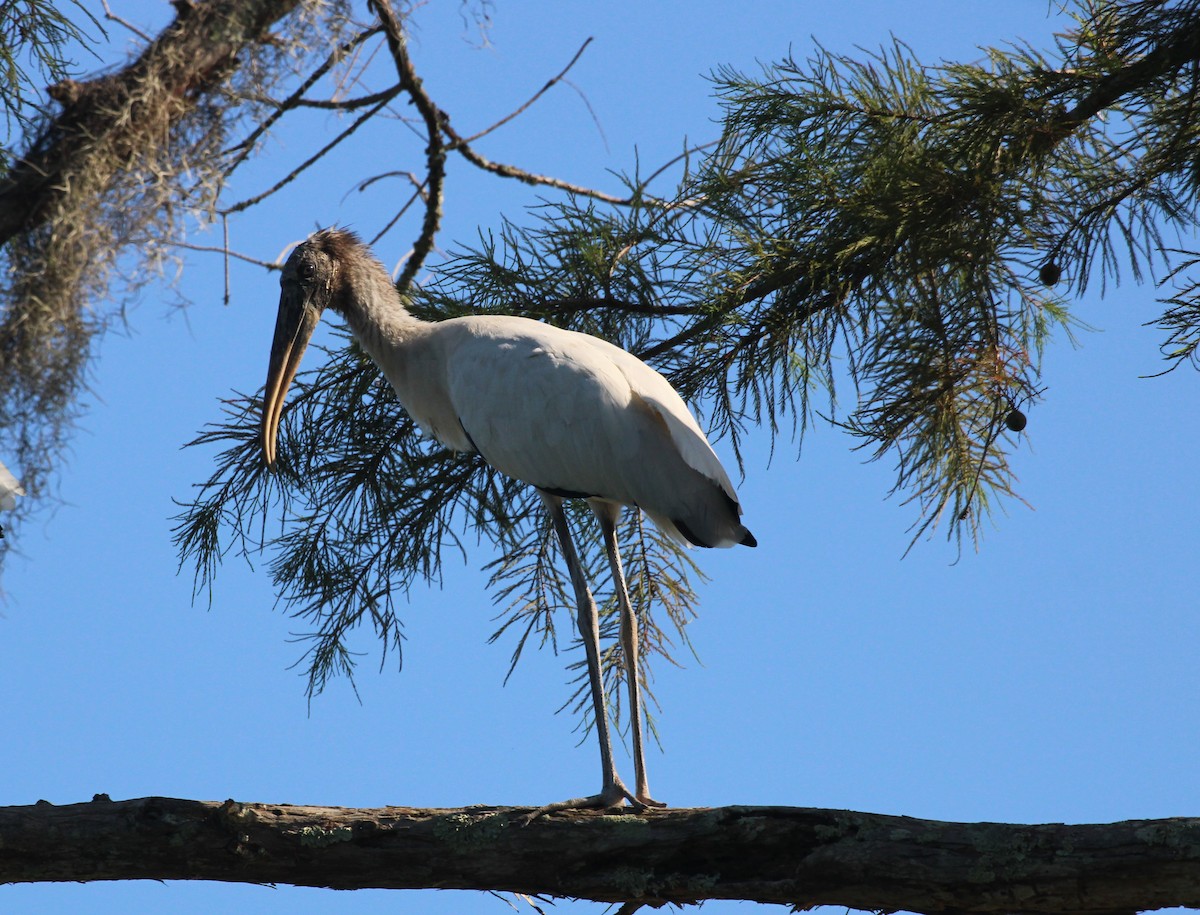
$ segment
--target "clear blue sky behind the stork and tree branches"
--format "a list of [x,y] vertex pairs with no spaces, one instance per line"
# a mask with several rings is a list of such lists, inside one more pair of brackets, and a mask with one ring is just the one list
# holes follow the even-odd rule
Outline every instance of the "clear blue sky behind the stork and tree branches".
[[[836,8],[833,11],[833,8]],[[164,4],[120,4],[156,30]],[[736,14],[734,14],[736,13]],[[488,46],[458,4],[415,14],[413,58],[460,132],[523,102],[594,38],[570,85],[480,144],[492,159],[616,189],[610,172],[715,134],[704,74],[752,68],[820,41],[853,53],[905,40],[926,61],[979,56],[1024,38],[1046,47],[1062,20],[1037,2],[498,2]],[[110,28],[116,61],[125,48]],[[331,132],[332,119],[306,130]],[[392,133],[389,134],[389,131]],[[274,258],[317,225],[379,225],[398,186],[354,183],[416,168],[403,128],[370,159],[335,162],[318,184],[232,223],[232,241]],[[311,142],[311,140],[310,140]],[[259,190],[305,149],[269,142],[229,199]],[[470,243],[529,189],[454,162],[440,243]],[[408,223],[380,245],[395,263]],[[196,235],[218,244],[216,233]],[[436,263],[436,262],[434,262]],[[492,556],[449,562],[404,608],[404,666],[376,672],[366,635],[358,681],[305,701],[289,665],[301,648],[270,581],[238,561],[212,604],[176,574],[173,498],[210,473],[181,447],[218,418],[230,389],[265,377],[277,279],[190,257],[193,304],[150,287],[125,333],[98,347],[89,413],[62,468],[64,504],[26,524],[0,608],[0,803],[180,797],[330,806],[535,805],[595,790],[592,738],[556,710],[574,654],[530,653],[502,686],[511,642],[487,645]],[[1088,297],[1097,328],[1046,354],[1046,400],[1016,456],[1031,508],[1008,507],[979,552],[940,537],[901,558],[913,520],[886,500],[892,468],[864,464],[832,429],[769,456],[751,436],[740,484],[757,550],[697,555],[710,575],[691,640],[702,663],[661,668],[664,750],[650,785],[672,806],[838,807],[953,820],[1104,823],[1195,815],[1200,621],[1194,612],[1200,453],[1192,371],[1162,367],[1157,305],[1132,282]],[[312,358],[312,357],[310,357]],[[730,460],[727,443],[718,451]],[[2,460],[2,455],[0,455]],[[565,621],[564,621],[565,624]],[[625,754],[618,765],[631,778]],[[532,911],[512,901],[518,910]],[[356,892],[199,883],[0,887],[6,913],[170,909],[275,913],[504,913],[481,893]],[[749,905],[709,903],[704,911]],[[602,907],[560,903],[557,911]]]

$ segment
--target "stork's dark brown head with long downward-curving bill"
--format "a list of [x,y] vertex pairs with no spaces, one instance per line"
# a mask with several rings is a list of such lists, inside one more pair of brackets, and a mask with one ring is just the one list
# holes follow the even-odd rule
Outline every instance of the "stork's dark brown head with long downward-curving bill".
[[292,252],[280,277],[280,313],[275,318],[271,363],[263,394],[262,444],[266,466],[275,464],[283,399],[296,376],[312,331],[326,307],[343,311],[347,263],[362,247],[353,232],[328,228]]

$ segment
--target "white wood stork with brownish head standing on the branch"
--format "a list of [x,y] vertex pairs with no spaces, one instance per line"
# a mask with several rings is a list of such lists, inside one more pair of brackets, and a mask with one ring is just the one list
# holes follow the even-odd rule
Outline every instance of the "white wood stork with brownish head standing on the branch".
[[[541,808],[662,806],[650,796],[642,747],[637,621],[616,526],[623,506],[697,546],[754,546],[728,474],[671,384],[646,363],[587,334],[521,317],[412,316],[388,271],[352,233],[322,229],[283,267],[280,311],[263,400],[262,445],[276,458],[283,400],[328,307],[346,318],[420,429],[457,451],[536,488],[562,543],[578,604],[600,741],[599,794]],[[586,498],[604,533],[620,603],[635,789],[617,775],[600,677],[599,621],[563,500]]]

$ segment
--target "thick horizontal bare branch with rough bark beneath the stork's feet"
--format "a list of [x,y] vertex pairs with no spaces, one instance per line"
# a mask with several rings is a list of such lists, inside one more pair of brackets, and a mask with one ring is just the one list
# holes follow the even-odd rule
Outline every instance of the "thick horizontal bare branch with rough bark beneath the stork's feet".
[[1022,826],[720,807],[576,811],[526,825],[529,809],[42,801],[0,808],[0,883],[223,880],[916,913],[1200,905],[1196,818]]

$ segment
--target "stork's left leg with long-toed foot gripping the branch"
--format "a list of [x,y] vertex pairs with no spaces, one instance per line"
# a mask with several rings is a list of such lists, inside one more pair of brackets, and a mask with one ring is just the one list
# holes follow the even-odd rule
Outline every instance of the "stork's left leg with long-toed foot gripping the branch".
[[604,699],[604,681],[600,677],[600,615],[596,611],[595,600],[592,598],[592,591],[588,588],[587,579],[583,578],[583,568],[580,566],[580,557],[571,540],[571,531],[566,525],[566,515],[563,513],[563,500],[548,492],[541,492],[541,490],[539,492],[542,502],[546,504],[546,510],[550,513],[550,520],[554,525],[558,540],[563,546],[563,558],[566,560],[566,568],[571,574],[571,585],[575,587],[575,599],[578,606],[575,618],[588,658],[588,681],[592,687],[596,737],[600,741],[600,767],[604,771],[604,785],[600,789],[600,794],[588,797],[572,797],[568,801],[539,807],[529,815],[529,819],[553,813],[554,811],[580,807],[616,807],[625,800],[637,807],[642,807],[642,802],[620,781],[620,777],[617,775],[617,766],[612,759],[612,741],[608,737],[608,710]]

